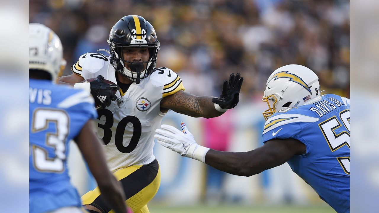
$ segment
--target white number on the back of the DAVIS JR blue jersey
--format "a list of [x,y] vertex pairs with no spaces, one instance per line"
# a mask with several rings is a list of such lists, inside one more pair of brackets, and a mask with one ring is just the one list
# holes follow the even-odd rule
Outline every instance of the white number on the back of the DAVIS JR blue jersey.
[[[339,119],[333,116],[318,125],[332,152],[345,145],[350,148],[350,110],[341,111]],[[340,131],[338,134],[335,132],[337,129]],[[346,174],[350,174],[350,157],[338,157],[337,160]]]

